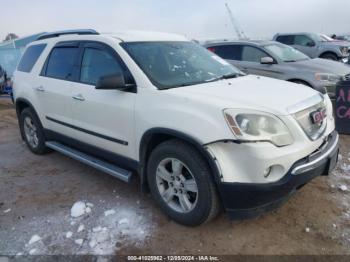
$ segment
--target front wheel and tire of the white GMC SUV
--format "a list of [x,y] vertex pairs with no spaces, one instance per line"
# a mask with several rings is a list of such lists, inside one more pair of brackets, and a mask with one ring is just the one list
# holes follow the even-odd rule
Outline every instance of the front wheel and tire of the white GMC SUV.
[[170,140],[157,146],[150,155],[147,176],[153,198],[176,222],[197,226],[218,214],[210,168],[191,145]]

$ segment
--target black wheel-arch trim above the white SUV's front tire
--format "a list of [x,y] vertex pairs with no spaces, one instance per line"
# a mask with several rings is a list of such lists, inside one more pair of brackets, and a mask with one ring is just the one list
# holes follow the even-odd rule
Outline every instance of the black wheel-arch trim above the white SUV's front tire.
[[177,130],[156,127],[156,128],[151,128],[147,130],[143,134],[140,141],[139,174],[141,178],[141,185],[145,185],[147,181],[146,179],[146,169],[147,169],[146,167],[147,167],[147,159],[148,159],[147,153],[149,151],[150,146],[152,146],[150,143],[152,142],[152,139],[154,138],[154,136],[165,137],[165,139],[160,139],[160,142],[158,142],[158,144],[168,139],[177,138],[194,146],[199,151],[199,153],[204,157],[204,159],[208,162],[209,167],[214,176],[215,182],[218,183],[220,181],[220,172],[215,163],[215,159],[209,154],[207,150],[205,150],[205,145],[203,145],[198,139]]

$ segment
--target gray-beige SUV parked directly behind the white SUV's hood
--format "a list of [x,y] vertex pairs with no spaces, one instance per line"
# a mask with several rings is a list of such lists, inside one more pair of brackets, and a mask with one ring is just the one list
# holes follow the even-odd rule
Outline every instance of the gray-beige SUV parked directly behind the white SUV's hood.
[[335,97],[336,83],[350,67],[325,59],[311,59],[274,41],[233,41],[204,44],[210,51],[247,74],[261,75],[310,86]]

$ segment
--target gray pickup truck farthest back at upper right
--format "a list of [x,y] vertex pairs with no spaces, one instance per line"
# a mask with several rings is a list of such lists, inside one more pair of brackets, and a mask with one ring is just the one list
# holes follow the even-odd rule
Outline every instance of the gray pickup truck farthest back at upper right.
[[277,34],[273,40],[290,45],[311,58],[348,62],[350,43],[345,41],[331,41],[315,33]]

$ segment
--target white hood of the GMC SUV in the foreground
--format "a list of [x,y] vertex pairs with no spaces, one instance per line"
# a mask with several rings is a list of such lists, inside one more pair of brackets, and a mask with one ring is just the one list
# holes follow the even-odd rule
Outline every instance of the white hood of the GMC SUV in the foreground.
[[287,108],[319,96],[318,92],[304,85],[254,75],[163,92],[220,109],[252,109],[275,115],[289,115]]

